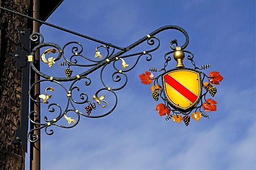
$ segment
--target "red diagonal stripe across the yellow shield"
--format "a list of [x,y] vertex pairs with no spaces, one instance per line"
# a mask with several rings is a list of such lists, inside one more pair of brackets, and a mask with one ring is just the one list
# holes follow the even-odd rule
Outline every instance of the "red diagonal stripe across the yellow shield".
[[182,96],[186,97],[191,103],[194,103],[197,99],[197,96],[193,94],[188,88],[183,86],[180,82],[175,80],[171,75],[167,74],[164,76],[164,80],[169,84],[173,89],[177,90]]

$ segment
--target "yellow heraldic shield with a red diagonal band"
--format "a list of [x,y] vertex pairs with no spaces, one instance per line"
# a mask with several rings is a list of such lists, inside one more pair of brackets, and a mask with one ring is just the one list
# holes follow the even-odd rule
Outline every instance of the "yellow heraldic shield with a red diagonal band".
[[201,96],[201,76],[189,69],[174,69],[162,75],[164,95],[169,104],[182,111],[189,111],[198,104]]

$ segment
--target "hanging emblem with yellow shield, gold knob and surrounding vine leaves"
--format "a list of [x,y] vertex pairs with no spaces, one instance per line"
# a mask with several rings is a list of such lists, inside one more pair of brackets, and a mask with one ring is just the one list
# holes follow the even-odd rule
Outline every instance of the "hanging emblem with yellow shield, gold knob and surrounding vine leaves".
[[[183,65],[184,52],[189,53],[187,59],[191,61],[194,68],[187,68]],[[177,66],[175,69],[166,71],[166,66],[171,61],[171,57],[166,56],[171,53],[177,61]],[[149,71],[140,74],[142,83],[151,84],[154,82],[154,85],[151,86],[151,96],[156,101],[159,100],[159,97],[163,100],[163,103],[156,106],[156,111],[160,116],[167,115],[166,121],[170,119],[178,123],[183,121],[187,126],[190,122],[190,115],[191,118],[199,121],[202,117],[209,118],[207,113],[210,111],[217,111],[217,101],[212,99],[217,93],[214,84],[219,85],[223,77],[217,71],[212,71],[208,75],[205,74],[201,70],[208,69],[210,64],[199,68],[193,59],[193,53],[177,47],[177,50],[165,55],[163,69],[157,70],[154,68],[149,70],[151,72],[163,72],[162,74],[157,77],[154,77],[154,74]],[[206,99],[207,95],[210,95],[210,98]]]

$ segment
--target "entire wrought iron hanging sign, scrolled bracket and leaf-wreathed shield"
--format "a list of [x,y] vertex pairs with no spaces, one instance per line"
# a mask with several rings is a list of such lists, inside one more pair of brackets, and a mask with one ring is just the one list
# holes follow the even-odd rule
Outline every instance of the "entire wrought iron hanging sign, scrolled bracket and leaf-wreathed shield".
[[[19,14],[22,15],[22,14]],[[22,15],[23,16],[23,15]],[[29,18],[29,16],[24,16]],[[185,36],[185,43],[178,45],[176,39],[170,41],[169,52],[163,56],[163,67],[149,68],[148,71],[138,75],[144,84],[150,84],[151,97],[156,101],[156,111],[160,116],[166,116],[167,120],[189,125],[190,117],[199,121],[202,117],[209,118],[210,112],[217,111],[217,101],[214,95],[217,92],[215,86],[222,81],[222,76],[217,71],[210,71],[210,65],[198,67],[194,61],[194,54],[185,50],[188,46],[188,33],[176,25],[167,25],[161,27],[140,40],[127,47],[118,47],[104,41],[94,39],[80,33],[58,27],[44,21],[29,18],[50,27],[73,33],[79,37],[94,41],[99,45],[94,47],[94,55],[86,56],[83,45],[77,41],[70,41],[62,47],[52,42],[44,42],[41,33],[30,33],[30,30],[19,31],[21,46],[12,55],[17,62],[17,67],[22,71],[22,106],[21,106],[21,124],[17,129],[13,143],[21,143],[27,151],[27,141],[36,142],[39,140],[35,131],[44,130],[46,134],[52,135],[53,126],[60,128],[73,128],[81,117],[99,118],[109,115],[117,106],[118,97],[116,91],[123,89],[127,83],[126,72],[134,69],[142,58],[150,61],[154,56],[151,54],[160,46],[160,40],[156,37],[159,32],[167,30],[177,30]],[[32,46],[34,42],[36,45]],[[127,54],[134,47],[145,44],[151,47],[149,50]],[[89,49],[87,49],[89,50]],[[36,53],[39,53],[39,60],[36,60]],[[128,59],[134,62],[127,62]],[[184,65],[183,61],[190,61],[189,65]],[[36,63],[47,69],[39,70]],[[177,65],[170,68],[167,65],[175,62]],[[114,71],[108,73],[111,75],[111,81],[106,82],[104,76],[105,70],[111,67]],[[53,75],[55,69],[59,72],[58,76]],[[95,72],[98,71],[100,81],[97,82],[99,89],[93,91],[90,89],[93,83]],[[29,72],[35,72],[40,79],[29,83]],[[93,73],[93,76],[91,76]],[[82,82],[82,85],[79,84]],[[113,86],[112,83],[118,84]],[[31,93],[37,84],[46,84],[41,89],[40,94]],[[42,86],[43,87],[43,86]],[[61,89],[62,96],[58,96]],[[85,90],[86,89],[86,90]],[[89,89],[89,90],[88,90]],[[92,92],[92,94],[90,94]],[[63,95],[64,94],[64,95]],[[108,96],[111,97],[111,101]],[[149,96],[150,97],[150,96]],[[61,98],[62,103],[54,98]],[[33,118],[37,116],[37,111],[29,111],[30,105],[41,104],[47,108],[47,112],[41,113],[44,117],[41,122],[35,122]],[[111,103],[111,104],[110,104]],[[28,124],[35,124],[36,128],[28,129]]]

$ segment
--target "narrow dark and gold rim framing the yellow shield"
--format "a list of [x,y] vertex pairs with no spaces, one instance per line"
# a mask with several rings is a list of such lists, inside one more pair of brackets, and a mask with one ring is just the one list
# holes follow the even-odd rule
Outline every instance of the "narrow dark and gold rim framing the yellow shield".
[[[190,71],[190,72],[195,72],[197,75],[198,75],[198,82],[199,82],[199,93],[197,95],[197,99],[194,101],[193,104],[191,104],[189,107],[187,108],[182,108],[180,106],[178,106],[177,104],[173,103],[172,100],[168,97],[167,95],[167,92],[166,92],[166,86],[165,86],[165,82],[164,82],[164,76],[166,74],[169,74],[171,72],[174,72],[174,71]],[[162,74],[162,84],[163,84],[163,91],[164,91],[164,96],[165,98],[167,99],[167,103],[169,103],[173,108],[175,109],[178,109],[179,111],[182,111],[182,112],[189,112],[191,111],[192,109],[194,109],[194,106],[196,106],[198,103],[199,103],[199,100],[201,99],[201,96],[202,96],[202,79],[201,79],[201,73],[194,70],[194,69],[189,69],[189,68],[182,68],[182,69],[172,69],[172,70],[169,70],[169,71],[166,71]]]

